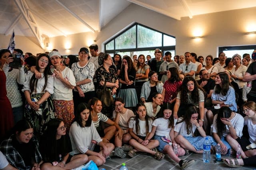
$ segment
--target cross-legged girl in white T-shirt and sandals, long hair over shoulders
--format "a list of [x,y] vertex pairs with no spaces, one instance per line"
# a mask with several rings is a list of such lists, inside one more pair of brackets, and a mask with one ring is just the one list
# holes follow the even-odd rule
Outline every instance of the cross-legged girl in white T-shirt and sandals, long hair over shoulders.
[[147,139],[147,136],[152,129],[153,121],[146,114],[146,107],[143,103],[137,104],[136,113],[136,116],[131,117],[129,120],[129,132],[132,136],[129,144],[135,149],[130,150],[128,155],[133,158],[137,151],[142,151],[154,155],[154,158],[157,160],[162,160],[164,154],[151,150],[158,147],[159,142],[157,140]]

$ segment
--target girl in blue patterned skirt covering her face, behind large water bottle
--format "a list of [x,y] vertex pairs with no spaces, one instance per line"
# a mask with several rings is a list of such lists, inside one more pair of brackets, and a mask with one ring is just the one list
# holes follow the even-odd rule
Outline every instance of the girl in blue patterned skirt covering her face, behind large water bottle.
[[[187,113],[178,119],[174,127],[174,136],[175,141],[182,148],[202,154],[206,133],[198,123],[198,113],[199,109],[196,106],[189,106]],[[211,145],[216,145],[216,142],[211,136],[208,136],[208,140]]]

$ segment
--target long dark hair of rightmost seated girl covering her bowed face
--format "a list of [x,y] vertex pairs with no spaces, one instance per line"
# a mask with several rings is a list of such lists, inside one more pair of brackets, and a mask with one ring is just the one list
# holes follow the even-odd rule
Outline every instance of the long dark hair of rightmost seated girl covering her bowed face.
[[219,113],[217,114],[216,125],[217,125],[217,133],[221,138],[223,132],[226,131],[226,125],[222,123],[220,118],[229,118],[231,116],[231,109],[227,106],[221,107]]

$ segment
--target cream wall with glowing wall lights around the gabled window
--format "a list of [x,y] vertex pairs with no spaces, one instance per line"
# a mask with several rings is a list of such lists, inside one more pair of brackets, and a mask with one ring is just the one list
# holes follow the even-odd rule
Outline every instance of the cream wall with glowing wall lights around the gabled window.
[[[116,18],[110,21],[100,32],[86,32],[49,38],[50,47],[56,48],[62,55],[77,54],[81,47],[88,47],[92,43],[99,45],[104,50],[104,43],[116,35],[120,30],[131,23],[138,22],[153,29],[157,29],[176,37],[176,54],[182,55],[186,51],[197,55],[213,55],[216,57],[219,46],[252,45],[256,44],[256,34],[246,34],[248,31],[256,31],[256,7],[242,10],[232,10],[193,16],[175,20],[158,14],[141,6],[131,4]],[[251,25],[251,29],[250,29]],[[201,29],[202,38],[193,39],[194,31]],[[0,35],[0,39],[8,39],[10,36]],[[94,42],[96,40],[96,42]],[[70,43],[69,50],[65,44]],[[6,44],[0,42],[0,47],[6,48]],[[24,52],[43,52],[40,47],[33,44],[28,38],[19,38],[16,47]]]

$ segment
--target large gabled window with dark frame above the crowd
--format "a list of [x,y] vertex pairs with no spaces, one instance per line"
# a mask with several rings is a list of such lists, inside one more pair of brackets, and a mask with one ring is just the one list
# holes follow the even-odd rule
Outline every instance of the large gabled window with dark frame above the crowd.
[[175,37],[149,28],[140,23],[128,27],[122,33],[105,44],[105,53],[128,55],[151,55],[154,58],[154,50],[160,49],[162,52],[170,51],[175,55]]

